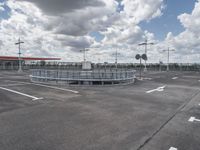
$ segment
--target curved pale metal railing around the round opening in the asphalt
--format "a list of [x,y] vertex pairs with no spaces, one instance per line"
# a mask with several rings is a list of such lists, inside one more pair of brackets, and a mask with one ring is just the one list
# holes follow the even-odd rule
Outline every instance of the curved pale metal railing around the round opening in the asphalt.
[[135,78],[135,71],[118,70],[31,70],[31,79],[46,79],[59,81],[122,81]]

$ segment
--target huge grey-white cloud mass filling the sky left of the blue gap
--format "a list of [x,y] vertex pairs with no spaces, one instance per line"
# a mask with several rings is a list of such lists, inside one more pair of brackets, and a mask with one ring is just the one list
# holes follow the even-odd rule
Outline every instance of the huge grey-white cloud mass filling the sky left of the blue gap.
[[[119,3],[123,9],[117,11]],[[124,49],[122,56],[128,57],[145,37],[154,40],[154,34],[138,24],[162,15],[163,0],[8,0],[6,5],[11,12],[0,22],[0,40],[5,45],[1,49],[17,54],[13,43],[21,37],[24,55],[63,60],[69,56],[68,61],[79,61],[77,51],[99,47],[90,54],[96,57],[98,51],[102,59],[113,60],[115,48]],[[90,36],[94,31],[104,36],[101,42]]]

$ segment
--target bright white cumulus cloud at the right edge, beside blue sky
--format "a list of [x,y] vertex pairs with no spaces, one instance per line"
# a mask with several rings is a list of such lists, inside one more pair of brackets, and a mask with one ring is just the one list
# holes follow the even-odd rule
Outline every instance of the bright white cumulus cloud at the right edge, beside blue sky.
[[183,32],[174,36],[168,33],[163,45],[175,48],[172,56],[174,62],[199,62],[200,54],[200,1],[196,2],[191,14],[183,13],[177,17],[185,28]]

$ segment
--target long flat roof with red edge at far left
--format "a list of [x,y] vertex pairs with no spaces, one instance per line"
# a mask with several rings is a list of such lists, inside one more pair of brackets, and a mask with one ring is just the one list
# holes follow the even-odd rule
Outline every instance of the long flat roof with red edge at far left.
[[[0,56],[0,60],[19,60],[19,57]],[[61,60],[61,58],[21,57],[21,60]]]

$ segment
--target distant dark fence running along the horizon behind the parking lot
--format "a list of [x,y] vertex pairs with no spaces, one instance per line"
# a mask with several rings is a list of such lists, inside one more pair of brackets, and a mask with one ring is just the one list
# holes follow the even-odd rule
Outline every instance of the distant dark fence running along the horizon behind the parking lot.
[[[18,65],[1,65],[0,70],[18,70]],[[82,68],[81,65],[23,65],[23,70],[30,70],[30,69],[46,69],[46,70],[80,70]],[[116,68],[113,64],[92,64],[92,68],[95,70],[102,70],[102,69],[110,69],[113,70]],[[144,65],[142,65],[144,68]],[[118,70],[139,70],[139,64],[118,64]],[[151,71],[166,71],[167,65],[166,64],[147,64],[147,69]],[[170,64],[169,65],[170,71],[200,71],[199,64]]]

